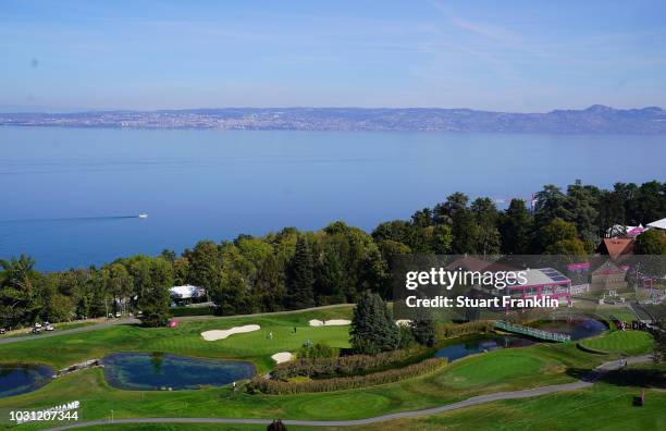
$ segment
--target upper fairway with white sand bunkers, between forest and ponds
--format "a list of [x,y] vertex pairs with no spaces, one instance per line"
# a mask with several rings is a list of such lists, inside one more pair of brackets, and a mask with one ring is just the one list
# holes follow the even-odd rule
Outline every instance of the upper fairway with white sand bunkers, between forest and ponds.
[[[293,315],[270,315],[224,319],[183,320],[177,328],[146,329],[119,325],[85,334],[35,338],[0,346],[0,361],[26,361],[63,368],[83,360],[101,358],[113,352],[169,352],[187,356],[252,360],[260,371],[274,366],[271,355],[299,348],[307,340],[325,341],[347,347],[348,327],[309,327],[310,319],[349,318],[350,306]],[[261,330],[232,335],[227,340],[205,341],[200,333],[213,329],[257,323]],[[294,333],[296,328],[296,333]],[[273,332],[273,338],[269,338]]]

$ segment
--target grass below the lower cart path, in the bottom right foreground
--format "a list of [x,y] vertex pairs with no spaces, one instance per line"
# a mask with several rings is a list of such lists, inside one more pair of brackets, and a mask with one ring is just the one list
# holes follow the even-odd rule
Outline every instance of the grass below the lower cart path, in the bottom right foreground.
[[[661,368],[665,371],[664,367]],[[443,415],[400,419],[365,427],[293,427],[292,431],[384,430],[659,430],[666,429],[666,392],[646,390],[645,405],[632,406],[641,387],[597,383],[585,390],[528,399],[490,403]],[[86,431],[263,431],[263,426],[121,424],[89,427]]]

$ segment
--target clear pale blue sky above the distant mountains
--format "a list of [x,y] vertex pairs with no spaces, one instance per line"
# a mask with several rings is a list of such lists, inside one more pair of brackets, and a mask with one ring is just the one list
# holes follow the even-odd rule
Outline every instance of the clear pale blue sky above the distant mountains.
[[0,110],[666,106],[666,2],[0,1]]

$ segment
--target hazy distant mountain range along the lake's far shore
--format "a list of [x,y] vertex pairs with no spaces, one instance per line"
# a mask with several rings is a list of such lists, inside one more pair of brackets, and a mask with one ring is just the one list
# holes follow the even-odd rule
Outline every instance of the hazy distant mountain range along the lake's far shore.
[[75,113],[0,113],[0,125],[288,131],[432,131],[666,134],[656,108],[510,113],[439,108],[224,108]]

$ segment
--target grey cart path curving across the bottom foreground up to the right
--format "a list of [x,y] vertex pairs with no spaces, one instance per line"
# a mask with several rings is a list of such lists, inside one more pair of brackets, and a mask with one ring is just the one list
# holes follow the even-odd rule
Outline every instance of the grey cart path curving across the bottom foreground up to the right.
[[[369,423],[384,422],[394,419],[411,418],[417,416],[436,415],[445,411],[457,410],[465,407],[477,406],[479,404],[493,403],[504,399],[520,399],[530,398],[533,396],[553,394],[556,392],[575,391],[584,387],[590,387],[605,372],[622,368],[624,362],[627,365],[646,362],[652,360],[651,355],[632,356],[626,359],[612,360],[604,362],[590,372],[583,380],[572,383],[554,384],[550,386],[533,387],[521,391],[497,392],[494,394],[485,394],[472,396],[471,398],[461,402],[446,404],[439,407],[425,408],[422,410],[398,411],[390,415],[375,416],[365,419],[351,420],[297,420],[282,419],[285,426],[305,426],[305,427],[357,427]],[[226,424],[261,424],[267,426],[273,419],[243,419],[243,418],[122,418],[113,421],[109,419],[90,420],[87,422],[78,422],[66,424],[63,427],[51,428],[49,431],[71,430],[75,428],[108,426],[115,423],[226,423]]]

